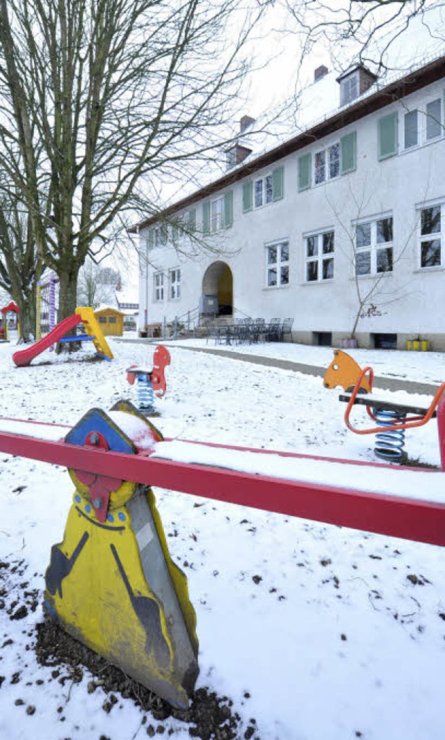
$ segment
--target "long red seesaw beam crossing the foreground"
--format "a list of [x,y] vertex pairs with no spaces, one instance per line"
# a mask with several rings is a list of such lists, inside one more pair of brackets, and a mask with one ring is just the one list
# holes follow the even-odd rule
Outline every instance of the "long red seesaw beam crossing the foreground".
[[[441,404],[438,417],[442,450],[445,445],[444,415],[444,405]],[[445,545],[445,502],[278,479],[208,465],[159,460],[149,454],[123,454],[6,432],[0,432],[0,450],[106,477],[170,488],[293,517]],[[370,465],[376,467],[373,463]]]

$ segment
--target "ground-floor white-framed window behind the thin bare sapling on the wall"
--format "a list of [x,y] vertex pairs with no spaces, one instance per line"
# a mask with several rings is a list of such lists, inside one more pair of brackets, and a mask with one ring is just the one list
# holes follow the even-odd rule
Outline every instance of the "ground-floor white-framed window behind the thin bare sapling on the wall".
[[393,217],[356,224],[356,275],[393,272]]

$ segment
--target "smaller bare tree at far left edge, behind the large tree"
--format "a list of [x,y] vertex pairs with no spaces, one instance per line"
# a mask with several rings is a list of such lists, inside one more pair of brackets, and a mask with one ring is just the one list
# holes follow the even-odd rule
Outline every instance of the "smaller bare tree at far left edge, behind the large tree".
[[35,334],[35,286],[41,273],[30,217],[18,201],[0,203],[0,288],[18,306],[19,341]]

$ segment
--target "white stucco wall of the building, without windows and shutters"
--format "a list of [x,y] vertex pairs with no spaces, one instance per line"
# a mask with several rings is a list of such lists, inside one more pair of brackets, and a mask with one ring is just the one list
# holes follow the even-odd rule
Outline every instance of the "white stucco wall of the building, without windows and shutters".
[[[404,101],[388,105],[362,118],[341,132],[295,152],[276,163],[284,166],[284,198],[251,212],[242,212],[242,182],[232,186],[234,219],[229,229],[210,241],[220,255],[203,253],[187,260],[172,246],[152,249],[147,271],[142,265],[140,279],[141,323],[143,310],[148,321],[171,320],[197,309],[205,270],[220,259],[230,266],[234,278],[235,315],[252,317],[293,317],[297,332],[341,332],[346,336],[357,311],[351,235],[357,219],[393,216],[393,272],[384,275],[370,298],[377,306],[374,317],[364,317],[359,332],[443,334],[445,337],[445,136],[403,149],[404,113],[419,109],[431,98],[441,98],[444,124],[445,80],[416,92]],[[378,161],[378,118],[398,110],[398,155]],[[356,131],[356,170],[303,192],[297,187],[297,159],[329,147],[350,131]],[[255,179],[271,169],[255,173]],[[248,179],[248,178],[246,178]],[[223,194],[224,191],[221,192]],[[419,206],[444,202],[442,213],[442,264],[420,269]],[[202,202],[196,203],[197,227],[202,224]],[[305,281],[305,240],[307,232],[335,232],[333,280]],[[141,232],[145,249],[147,231]],[[265,245],[288,240],[290,283],[268,288],[265,285]],[[153,301],[153,273],[181,269],[181,297]],[[372,286],[376,277],[359,278],[361,289]],[[148,287],[147,287],[148,286]],[[148,299],[148,300],[147,300]]]

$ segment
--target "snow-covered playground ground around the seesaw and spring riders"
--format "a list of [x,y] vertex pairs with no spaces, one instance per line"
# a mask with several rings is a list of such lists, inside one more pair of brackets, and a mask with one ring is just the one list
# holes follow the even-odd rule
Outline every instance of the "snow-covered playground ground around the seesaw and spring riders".
[[[2,415],[70,428],[91,408],[108,411],[122,398],[135,403],[126,373],[150,366],[156,345],[112,338],[109,345],[112,363],[82,361],[89,349],[74,357],[52,353],[21,369],[12,360],[16,346],[1,344]],[[155,420],[164,437],[376,461],[373,438],[344,425],[341,389],[323,387],[331,349],[242,347],[264,358],[249,363],[192,346],[210,349],[205,341],[168,343],[167,390],[156,399]],[[432,386],[445,380],[443,354],[351,354],[373,366],[376,387],[377,377]],[[276,360],[283,366],[272,366]],[[432,397],[382,394],[422,407]],[[354,418],[365,421],[365,409],[356,408]],[[405,446],[411,464],[438,467],[436,420],[408,430]],[[217,449],[213,459],[221,461]],[[345,466],[342,485],[358,485],[365,469]],[[63,465],[4,453],[0,471],[0,737],[188,738],[193,722],[153,716],[132,690],[122,695],[122,678],[111,686],[103,679],[103,665],[96,675],[75,658],[60,662],[60,653],[52,665],[37,661],[44,572],[63,536],[73,484]],[[425,488],[418,495],[427,497],[424,480],[435,474],[419,467],[418,475]],[[444,548],[156,487],[154,494],[197,614],[196,687],[203,696],[216,693],[227,718],[217,730],[208,724],[215,738],[443,740]],[[270,496],[272,502],[273,485]]]

